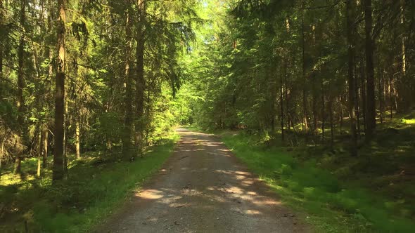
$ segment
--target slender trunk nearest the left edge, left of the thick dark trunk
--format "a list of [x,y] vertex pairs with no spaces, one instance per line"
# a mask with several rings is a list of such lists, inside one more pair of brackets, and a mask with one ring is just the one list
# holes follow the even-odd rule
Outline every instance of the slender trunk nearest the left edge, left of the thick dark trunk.
[[[21,0],[20,1],[20,27],[23,29],[25,28],[25,5],[26,1]],[[24,31],[22,32],[24,33]],[[20,43],[18,48],[18,96],[17,96],[17,107],[18,107],[18,136],[20,138],[21,143],[23,143],[23,124],[24,124],[24,116],[25,114],[25,100],[23,99],[23,88],[25,88],[25,81],[24,74],[23,74],[23,65],[25,58],[23,57],[25,55],[25,39],[24,36],[20,36]],[[23,147],[18,146],[17,148],[17,154],[15,159],[15,173],[21,172],[21,161],[23,157]]]

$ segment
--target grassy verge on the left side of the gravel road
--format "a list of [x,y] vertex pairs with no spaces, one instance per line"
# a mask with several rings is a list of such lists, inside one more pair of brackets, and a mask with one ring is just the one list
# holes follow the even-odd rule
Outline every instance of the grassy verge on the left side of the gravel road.
[[72,161],[70,178],[53,186],[50,171],[34,179],[36,160],[25,160],[24,177],[1,176],[0,232],[87,232],[162,166],[178,138],[170,136],[134,162]]

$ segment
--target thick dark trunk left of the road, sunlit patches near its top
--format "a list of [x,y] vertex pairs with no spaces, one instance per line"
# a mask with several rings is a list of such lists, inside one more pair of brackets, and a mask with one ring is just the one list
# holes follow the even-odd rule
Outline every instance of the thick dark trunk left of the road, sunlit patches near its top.
[[58,59],[56,69],[55,90],[55,142],[53,149],[53,180],[62,180],[64,175],[63,133],[65,121],[65,4],[66,0],[58,0],[59,20],[56,27],[58,34]]

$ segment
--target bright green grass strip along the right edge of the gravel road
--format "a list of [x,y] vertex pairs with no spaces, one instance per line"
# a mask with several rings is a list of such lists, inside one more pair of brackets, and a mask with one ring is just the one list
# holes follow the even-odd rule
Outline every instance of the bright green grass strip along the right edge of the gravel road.
[[[305,214],[317,232],[413,232],[414,206],[390,200],[364,185],[350,185],[315,159],[300,161],[293,152],[265,148],[259,138],[224,133],[236,157],[266,181],[283,201]],[[321,154],[322,156],[322,154]]]

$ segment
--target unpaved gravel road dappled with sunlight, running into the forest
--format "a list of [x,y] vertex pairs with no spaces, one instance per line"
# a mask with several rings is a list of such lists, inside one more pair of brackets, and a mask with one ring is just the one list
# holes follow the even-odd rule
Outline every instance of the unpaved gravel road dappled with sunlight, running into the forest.
[[177,131],[160,171],[96,232],[311,232],[222,142]]

